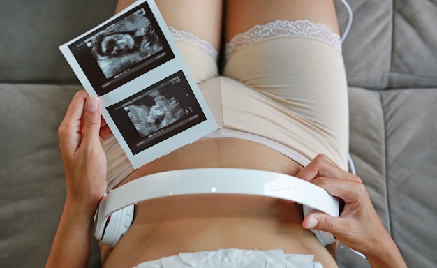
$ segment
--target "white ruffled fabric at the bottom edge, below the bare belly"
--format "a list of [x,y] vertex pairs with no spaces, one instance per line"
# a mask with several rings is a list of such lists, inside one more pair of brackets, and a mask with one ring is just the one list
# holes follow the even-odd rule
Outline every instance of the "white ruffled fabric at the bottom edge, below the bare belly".
[[320,262],[313,262],[313,255],[284,254],[280,249],[252,251],[245,249],[219,249],[180,253],[158,260],[143,262],[135,268],[321,268]]

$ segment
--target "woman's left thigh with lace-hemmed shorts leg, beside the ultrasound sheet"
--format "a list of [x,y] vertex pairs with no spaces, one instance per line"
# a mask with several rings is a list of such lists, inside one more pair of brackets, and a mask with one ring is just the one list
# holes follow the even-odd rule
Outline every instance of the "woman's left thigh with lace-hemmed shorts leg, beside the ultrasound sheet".
[[196,82],[218,75],[222,0],[156,0]]

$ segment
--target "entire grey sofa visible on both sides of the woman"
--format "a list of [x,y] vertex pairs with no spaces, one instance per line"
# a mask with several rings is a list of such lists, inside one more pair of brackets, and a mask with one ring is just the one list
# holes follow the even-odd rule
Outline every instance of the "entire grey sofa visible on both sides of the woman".
[[[43,267],[65,198],[57,127],[81,89],[58,45],[116,0],[1,1],[0,267]],[[437,263],[437,2],[350,0],[350,153],[409,267]],[[348,15],[336,0],[341,29]],[[94,244],[91,267],[98,267]],[[340,267],[369,267],[343,245]]]

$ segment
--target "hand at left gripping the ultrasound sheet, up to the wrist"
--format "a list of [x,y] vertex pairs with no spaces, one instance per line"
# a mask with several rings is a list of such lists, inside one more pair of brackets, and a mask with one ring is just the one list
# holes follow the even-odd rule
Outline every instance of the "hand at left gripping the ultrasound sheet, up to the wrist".
[[[104,126],[101,127],[101,124]],[[106,191],[106,156],[103,140],[110,130],[101,118],[96,96],[79,91],[58,129],[67,186],[67,202],[96,209]]]

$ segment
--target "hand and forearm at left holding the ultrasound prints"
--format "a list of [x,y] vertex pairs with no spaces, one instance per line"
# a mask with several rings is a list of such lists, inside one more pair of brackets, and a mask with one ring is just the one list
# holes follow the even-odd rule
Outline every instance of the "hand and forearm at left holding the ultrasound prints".
[[[106,191],[106,156],[97,97],[79,91],[59,126],[67,199],[45,267],[88,267],[94,212]],[[104,124],[104,122],[103,122]]]

